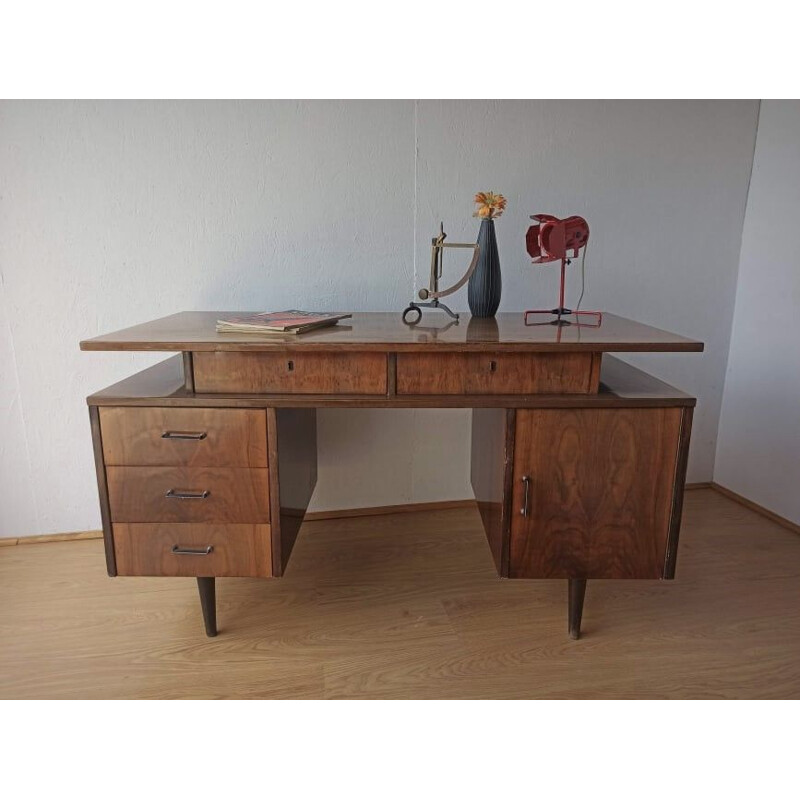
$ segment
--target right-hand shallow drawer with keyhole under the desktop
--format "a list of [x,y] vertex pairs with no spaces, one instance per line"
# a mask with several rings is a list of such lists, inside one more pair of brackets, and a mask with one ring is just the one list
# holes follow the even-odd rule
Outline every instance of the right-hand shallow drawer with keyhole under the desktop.
[[595,353],[398,353],[398,394],[592,394]]

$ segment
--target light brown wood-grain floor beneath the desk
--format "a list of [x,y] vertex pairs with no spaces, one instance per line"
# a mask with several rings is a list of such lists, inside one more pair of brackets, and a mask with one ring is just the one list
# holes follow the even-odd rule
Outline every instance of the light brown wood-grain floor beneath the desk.
[[472,509],[303,526],[287,575],[105,576],[101,541],[0,548],[3,698],[800,698],[800,537],[687,492],[672,582],[502,581]]

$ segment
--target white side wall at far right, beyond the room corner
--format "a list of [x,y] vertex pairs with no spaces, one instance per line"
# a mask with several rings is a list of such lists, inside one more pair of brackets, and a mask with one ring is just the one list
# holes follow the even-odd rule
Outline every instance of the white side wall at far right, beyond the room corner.
[[800,524],[800,101],[761,104],[714,480]]

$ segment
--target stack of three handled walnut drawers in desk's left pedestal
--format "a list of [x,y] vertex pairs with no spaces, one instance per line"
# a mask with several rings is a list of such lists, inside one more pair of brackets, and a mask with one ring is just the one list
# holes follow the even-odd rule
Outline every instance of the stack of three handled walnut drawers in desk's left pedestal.
[[269,577],[261,409],[100,409],[119,575]]

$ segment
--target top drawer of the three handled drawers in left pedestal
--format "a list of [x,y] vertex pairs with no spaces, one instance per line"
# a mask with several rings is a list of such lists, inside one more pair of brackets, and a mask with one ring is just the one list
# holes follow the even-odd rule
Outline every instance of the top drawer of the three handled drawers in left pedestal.
[[108,466],[267,466],[262,410],[107,407],[100,427]]

